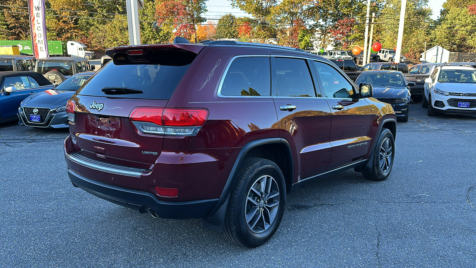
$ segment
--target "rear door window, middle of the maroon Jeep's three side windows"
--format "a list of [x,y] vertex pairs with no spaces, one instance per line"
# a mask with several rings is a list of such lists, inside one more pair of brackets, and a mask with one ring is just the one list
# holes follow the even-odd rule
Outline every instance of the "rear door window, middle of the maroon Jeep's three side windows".
[[316,97],[306,60],[275,58],[275,67],[278,96]]

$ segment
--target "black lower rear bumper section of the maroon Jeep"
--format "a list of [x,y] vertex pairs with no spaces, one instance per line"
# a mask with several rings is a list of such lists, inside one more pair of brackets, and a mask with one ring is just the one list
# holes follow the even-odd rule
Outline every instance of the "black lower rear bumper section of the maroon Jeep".
[[225,202],[224,198],[168,202],[151,193],[108,185],[86,178],[68,169],[69,179],[75,187],[114,204],[146,213],[151,208],[159,217],[169,219],[204,218],[212,216]]

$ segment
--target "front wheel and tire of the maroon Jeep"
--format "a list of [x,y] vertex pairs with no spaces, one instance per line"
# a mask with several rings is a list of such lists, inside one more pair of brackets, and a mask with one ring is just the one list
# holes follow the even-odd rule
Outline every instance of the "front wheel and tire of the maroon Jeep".
[[392,171],[393,159],[395,157],[395,139],[392,132],[387,128],[382,128],[377,139],[370,173],[362,173],[365,178],[372,181],[385,180]]

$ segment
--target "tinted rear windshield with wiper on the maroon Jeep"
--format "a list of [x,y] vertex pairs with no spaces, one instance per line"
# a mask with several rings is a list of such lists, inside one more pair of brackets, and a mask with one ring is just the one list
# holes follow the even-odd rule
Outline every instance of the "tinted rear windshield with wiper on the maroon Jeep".
[[169,50],[134,56],[118,52],[78,94],[169,100],[196,56],[193,52]]

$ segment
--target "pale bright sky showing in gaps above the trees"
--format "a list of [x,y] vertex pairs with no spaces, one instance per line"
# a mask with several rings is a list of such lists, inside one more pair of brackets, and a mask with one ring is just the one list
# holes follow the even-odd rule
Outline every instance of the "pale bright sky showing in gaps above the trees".
[[[436,20],[438,18],[441,6],[445,1],[446,0],[428,0],[428,6],[433,10],[432,19]],[[230,0],[208,0],[207,9],[208,12],[205,13],[205,17],[208,19],[219,19],[227,13],[232,13],[237,17],[247,16],[246,12],[238,8],[233,8]]]

